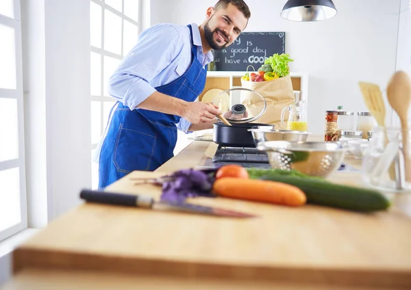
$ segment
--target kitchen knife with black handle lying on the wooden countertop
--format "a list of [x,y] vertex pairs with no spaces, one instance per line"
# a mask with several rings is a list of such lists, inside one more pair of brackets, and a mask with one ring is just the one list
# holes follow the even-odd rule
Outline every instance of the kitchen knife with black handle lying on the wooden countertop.
[[147,209],[160,209],[169,211],[182,211],[186,213],[199,213],[203,215],[217,215],[232,218],[253,218],[256,215],[241,213],[239,211],[230,211],[216,207],[204,207],[201,205],[192,205],[190,203],[172,203],[160,201],[156,202],[151,196],[117,194],[114,192],[101,192],[97,190],[82,189],[80,198],[88,202],[97,202],[107,205],[123,205],[128,207],[143,207]]

